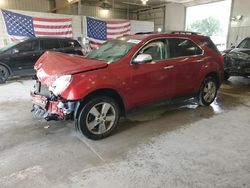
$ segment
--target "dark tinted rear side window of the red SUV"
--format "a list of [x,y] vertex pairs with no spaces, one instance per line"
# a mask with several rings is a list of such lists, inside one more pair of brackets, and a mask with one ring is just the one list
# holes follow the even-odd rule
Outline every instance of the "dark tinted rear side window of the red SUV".
[[202,50],[189,39],[170,38],[168,45],[170,58],[202,54]]

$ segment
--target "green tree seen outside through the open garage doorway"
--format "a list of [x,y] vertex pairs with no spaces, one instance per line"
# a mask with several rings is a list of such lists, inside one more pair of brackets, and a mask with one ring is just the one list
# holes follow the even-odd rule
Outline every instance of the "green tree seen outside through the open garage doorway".
[[220,21],[210,16],[203,20],[197,20],[193,22],[188,30],[199,32],[206,36],[213,36],[221,31]]

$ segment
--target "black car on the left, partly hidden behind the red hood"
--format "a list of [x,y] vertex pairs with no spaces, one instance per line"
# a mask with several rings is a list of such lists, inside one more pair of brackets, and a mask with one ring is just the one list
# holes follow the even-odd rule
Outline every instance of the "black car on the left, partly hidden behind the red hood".
[[82,47],[71,38],[32,38],[0,49],[0,83],[10,76],[35,73],[34,65],[47,50],[83,55]]

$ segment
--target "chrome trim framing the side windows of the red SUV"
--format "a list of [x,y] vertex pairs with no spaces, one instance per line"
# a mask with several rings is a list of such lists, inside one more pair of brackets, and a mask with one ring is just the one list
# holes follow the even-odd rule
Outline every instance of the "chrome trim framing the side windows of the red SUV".
[[[159,62],[159,61],[165,61],[165,60],[173,60],[173,59],[180,59],[180,58],[187,58],[187,57],[198,57],[198,56],[203,56],[204,55],[204,50],[196,43],[194,42],[192,39],[188,38],[188,37],[157,37],[154,39],[150,39],[148,40],[145,44],[143,44],[137,51],[136,53],[132,56],[131,60],[130,60],[130,65],[133,65],[132,61],[135,58],[135,56],[138,54],[138,52],[144,48],[146,45],[148,45],[150,42],[154,41],[154,40],[160,40],[160,39],[186,39],[186,40],[190,40],[192,41],[198,48],[200,48],[200,50],[202,51],[201,54],[198,55],[190,55],[190,56],[180,56],[180,57],[172,57],[172,58],[167,58],[167,59],[161,59],[161,60],[156,60],[154,62]],[[147,63],[145,63],[147,64]]]

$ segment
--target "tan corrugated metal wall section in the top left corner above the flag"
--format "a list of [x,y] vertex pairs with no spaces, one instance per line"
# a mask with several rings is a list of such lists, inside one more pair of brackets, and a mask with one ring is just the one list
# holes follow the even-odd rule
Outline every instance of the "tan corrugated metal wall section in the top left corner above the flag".
[[2,0],[0,8],[46,12],[50,9],[49,0]]

